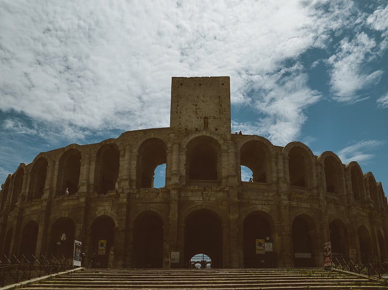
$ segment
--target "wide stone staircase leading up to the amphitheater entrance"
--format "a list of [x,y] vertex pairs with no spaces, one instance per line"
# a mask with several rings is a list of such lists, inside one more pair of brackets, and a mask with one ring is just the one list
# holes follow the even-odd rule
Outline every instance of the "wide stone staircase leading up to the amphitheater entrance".
[[84,269],[55,276],[23,290],[49,289],[388,289],[376,281],[323,268],[133,270]]

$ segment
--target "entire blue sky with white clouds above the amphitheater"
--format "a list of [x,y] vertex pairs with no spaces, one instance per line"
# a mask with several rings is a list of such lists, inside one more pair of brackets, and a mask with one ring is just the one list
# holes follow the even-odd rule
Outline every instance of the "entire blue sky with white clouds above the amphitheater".
[[232,130],[358,161],[388,194],[388,0],[0,1],[0,183],[39,152],[169,126],[230,76]]

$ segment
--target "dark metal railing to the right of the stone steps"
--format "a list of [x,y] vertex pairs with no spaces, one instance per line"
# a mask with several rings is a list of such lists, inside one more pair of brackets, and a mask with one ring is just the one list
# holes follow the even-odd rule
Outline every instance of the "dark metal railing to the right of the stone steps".
[[379,257],[373,257],[372,255],[356,258],[345,254],[335,255],[332,257],[331,266],[335,269],[376,278],[388,275],[388,260],[382,261]]

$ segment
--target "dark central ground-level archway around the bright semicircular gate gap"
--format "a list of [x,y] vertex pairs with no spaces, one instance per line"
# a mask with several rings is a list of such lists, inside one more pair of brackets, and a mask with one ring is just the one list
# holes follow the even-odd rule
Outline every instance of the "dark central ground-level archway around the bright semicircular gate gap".
[[197,253],[211,257],[213,268],[222,268],[222,224],[220,218],[210,210],[197,210],[185,220],[184,261],[190,264]]

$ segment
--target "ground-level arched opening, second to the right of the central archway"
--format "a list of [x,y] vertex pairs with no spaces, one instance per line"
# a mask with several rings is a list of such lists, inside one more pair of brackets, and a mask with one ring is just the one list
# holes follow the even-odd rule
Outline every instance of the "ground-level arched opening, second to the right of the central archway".
[[295,217],[292,222],[295,268],[314,267],[313,259],[317,255],[316,239],[316,228],[313,220],[305,214]]

